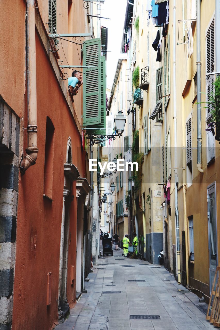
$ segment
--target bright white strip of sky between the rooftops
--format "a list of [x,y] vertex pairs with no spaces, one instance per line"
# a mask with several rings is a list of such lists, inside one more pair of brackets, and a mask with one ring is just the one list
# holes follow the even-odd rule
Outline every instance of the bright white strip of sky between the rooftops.
[[127,0],[105,0],[101,5],[101,25],[108,27],[107,87],[112,88],[116,65],[120,57]]

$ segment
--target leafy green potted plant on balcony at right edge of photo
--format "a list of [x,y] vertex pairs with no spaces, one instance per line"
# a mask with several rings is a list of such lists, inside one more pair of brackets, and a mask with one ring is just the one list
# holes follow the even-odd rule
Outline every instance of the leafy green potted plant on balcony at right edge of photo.
[[[211,122],[205,131],[211,131],[215,135],[215,140],[220,142],[220,76],[215,80],[214,92],[209,95],[209,102],[206,103],[207,107],[205,108],[211,108]],[[214,128],[216,128],[216,134]]]

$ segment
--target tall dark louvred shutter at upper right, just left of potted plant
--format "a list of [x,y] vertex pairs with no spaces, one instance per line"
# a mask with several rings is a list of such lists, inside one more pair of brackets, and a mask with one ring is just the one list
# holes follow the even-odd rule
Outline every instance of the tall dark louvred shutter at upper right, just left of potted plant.
[[[210,25],[210,28],[208,30],[208,33],[206,35],[206,70],[207,73],[214,72],[214,65],[215,65],[215,39],[214,39],[214,31],[215,31],[215,25],[214,25],[214,19]],[[207,118],[211,115],[211,105],[209,102],[211,102],[210,96],[213,92],[213,76],[207,76],[206,85],[207,85]]]

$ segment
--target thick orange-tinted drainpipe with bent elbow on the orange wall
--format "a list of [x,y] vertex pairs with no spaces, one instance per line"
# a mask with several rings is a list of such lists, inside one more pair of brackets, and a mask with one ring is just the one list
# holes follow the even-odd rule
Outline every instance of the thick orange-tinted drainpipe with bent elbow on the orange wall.
[[34,0],[26,6],[26,61],[27,61],[27,149],[20,163],[21,175],[37,159],[37,87]]

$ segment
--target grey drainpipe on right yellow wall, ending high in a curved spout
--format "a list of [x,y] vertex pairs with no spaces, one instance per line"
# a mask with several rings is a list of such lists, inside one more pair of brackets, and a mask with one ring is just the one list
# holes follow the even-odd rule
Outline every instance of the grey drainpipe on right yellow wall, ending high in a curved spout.
[[202,170],[202,125],[201,125],[201,0],[196,0],[196,66],[197,66],[197,170]]

